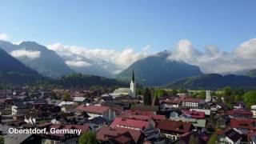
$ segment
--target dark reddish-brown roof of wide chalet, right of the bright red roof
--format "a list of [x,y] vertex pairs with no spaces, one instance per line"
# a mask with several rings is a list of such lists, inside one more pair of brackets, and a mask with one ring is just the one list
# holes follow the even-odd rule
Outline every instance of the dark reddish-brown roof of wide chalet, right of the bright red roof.
[[160,121],[157,126],[159,130],[169,130],[169,131],[181,132],[181,133],[190,132],[192,127],[193,125],[191,122],[168,121],[168,120]]

